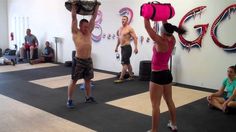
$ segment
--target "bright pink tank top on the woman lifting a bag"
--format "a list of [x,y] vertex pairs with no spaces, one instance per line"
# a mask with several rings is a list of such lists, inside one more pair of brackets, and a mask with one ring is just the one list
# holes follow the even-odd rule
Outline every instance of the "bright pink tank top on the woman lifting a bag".
[[166,52],[157,52],[155,45],[153,46],[152,70],[163,71],[168,70],[168,62],[172,54],[175,42],[174,39],[168,41],[169,49]]

